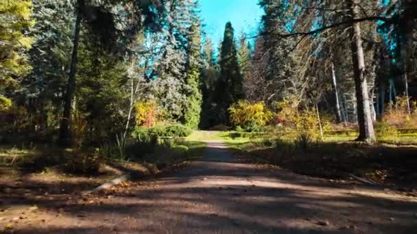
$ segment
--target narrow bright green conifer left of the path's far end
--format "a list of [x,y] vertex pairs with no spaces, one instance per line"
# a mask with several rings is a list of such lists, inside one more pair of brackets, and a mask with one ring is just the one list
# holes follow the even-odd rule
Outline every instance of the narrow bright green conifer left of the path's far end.
[[202,94],[200,91],[200,25],[190,28],[189,55],[187,61],[186,96],[184,125],[197,129],[200,122]]

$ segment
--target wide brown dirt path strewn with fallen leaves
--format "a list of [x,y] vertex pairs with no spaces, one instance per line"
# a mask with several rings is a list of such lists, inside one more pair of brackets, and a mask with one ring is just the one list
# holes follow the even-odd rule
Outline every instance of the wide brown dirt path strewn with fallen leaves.
[[243,164],[221,142],[208,142],[202,159],[171,177],[95,199],[91,205],[38,201],[36,218],[14,224],[14,230],[399,234],[417,227],[416,198]]

